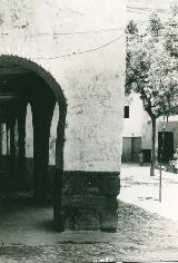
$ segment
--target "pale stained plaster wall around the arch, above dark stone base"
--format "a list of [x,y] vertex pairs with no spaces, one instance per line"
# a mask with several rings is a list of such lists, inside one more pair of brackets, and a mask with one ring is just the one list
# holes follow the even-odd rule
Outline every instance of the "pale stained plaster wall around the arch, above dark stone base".
[[65,171],[120,169],[125,6],[123,0],[0,1],[0,55],[41,66],[67,99]]

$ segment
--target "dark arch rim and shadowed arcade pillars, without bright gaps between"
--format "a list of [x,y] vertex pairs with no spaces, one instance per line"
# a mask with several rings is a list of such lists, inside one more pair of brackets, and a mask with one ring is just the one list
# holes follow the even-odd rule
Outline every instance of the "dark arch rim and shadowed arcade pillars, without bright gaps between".
[[[18,160],[19,169],[24,169],[24,136],[27,104],[31,105],[33,123],[33,173],[34,194],[44,198],[49,159],[49,132],[56,101],[59,105],[59,121],[56,143],[56,182],[60,187],[55,193],[61,193],[61,175],[63,171],[65,124],[67,104],[59,84],[42,67],[33,61],[16,56],[0,56],[0,86],[1,100],[8,115],[7,127],[10,139],[11,162],[14,162],[16,120],[18,119]],[[6,90],[7,89],[7,90]],[[6,101],[6,104],[4,104]],[[18,101],[18,103],[17,103]],[[1,105],[1,104],[0,104]],[[6,106],[4,106],[6,105]],[[11,108],[11,109],[10,109]],[[8,138],[7,133],[7,138]],[[7,146],[8,147],[8,146]],[[8,150],[8,148],[7,148]],[[57,184],[55,184],[57,186]],[[59,185],[58,185],[59,186]],[[58,202],[59,202],[58,194]]]

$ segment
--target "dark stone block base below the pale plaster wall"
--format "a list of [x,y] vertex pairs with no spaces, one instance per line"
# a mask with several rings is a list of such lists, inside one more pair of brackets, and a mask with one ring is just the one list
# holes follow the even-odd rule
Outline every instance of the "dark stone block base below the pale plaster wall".
[[53,207],[56,228],[115,231],[118,224],[119,192],[119,173],[65,172],[59,176],[57,174]]

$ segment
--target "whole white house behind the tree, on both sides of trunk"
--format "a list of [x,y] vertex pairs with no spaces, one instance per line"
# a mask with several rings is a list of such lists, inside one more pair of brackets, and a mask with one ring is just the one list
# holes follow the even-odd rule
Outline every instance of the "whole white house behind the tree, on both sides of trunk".
[[[151,159],[151,119],[144,110],[142,101],[138,94],[132,92],[126,97],[125,120],[122,138],[122,162],[139,162],[139,153],[144,153],[144,162]],[[157,158],[160,159],[162,145],[164,117],[157,119],[156,150]],[[178,147],[178,116],[170,116],[166,128],[164,162],[172,158],[174,152]]]

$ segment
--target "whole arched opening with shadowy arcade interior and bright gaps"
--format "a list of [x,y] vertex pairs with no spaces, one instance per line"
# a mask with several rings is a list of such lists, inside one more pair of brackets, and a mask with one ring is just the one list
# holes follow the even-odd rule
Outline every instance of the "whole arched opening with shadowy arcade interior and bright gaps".
[[49,164],[58,175],[63,169],[66,109],[60,86],[43,68],[0,57],[1,191],[32,187],[38,201],[46,199]]

